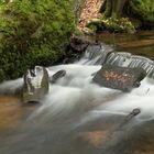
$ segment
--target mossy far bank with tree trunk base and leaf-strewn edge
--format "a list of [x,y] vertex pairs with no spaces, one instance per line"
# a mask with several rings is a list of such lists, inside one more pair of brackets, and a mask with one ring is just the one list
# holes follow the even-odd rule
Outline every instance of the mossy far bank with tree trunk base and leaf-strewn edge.
[[154,29],[153,0],[103,0],[101,15],[88,26],[96,31],[135,32]]

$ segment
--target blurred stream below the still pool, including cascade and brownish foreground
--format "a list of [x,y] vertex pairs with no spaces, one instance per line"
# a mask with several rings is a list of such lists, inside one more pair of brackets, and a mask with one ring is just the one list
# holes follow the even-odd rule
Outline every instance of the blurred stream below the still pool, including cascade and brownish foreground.
[[[66,76],[38,106],[0,97],[0,154],[154,154],[153,61],[114,50],[96,45],[75,64],[48,67]],[[102,63],[142,67],[147,77],[131,92],[99,87],[91,79]],[[22,84],[6,81],[0,91],[13,95]],[[130,117],[135,108],[141,113]]]

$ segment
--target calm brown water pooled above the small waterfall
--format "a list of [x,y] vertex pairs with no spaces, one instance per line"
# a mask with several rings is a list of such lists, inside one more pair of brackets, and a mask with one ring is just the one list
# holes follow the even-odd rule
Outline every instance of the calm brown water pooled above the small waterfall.
[[139,31],[133,35],[103,33],[96,35],[96,38],[112,44],[119,52],[129,52],[154,59],[154,31]]

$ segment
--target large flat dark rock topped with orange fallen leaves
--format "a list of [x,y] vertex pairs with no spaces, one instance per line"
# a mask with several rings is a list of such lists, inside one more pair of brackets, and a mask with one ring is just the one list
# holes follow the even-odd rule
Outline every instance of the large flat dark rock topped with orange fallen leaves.
[[139,87],[140,81],[146,76],[142,68],[127,68],[105,64],[94,77],[94,82],[122,91],[130,91]]

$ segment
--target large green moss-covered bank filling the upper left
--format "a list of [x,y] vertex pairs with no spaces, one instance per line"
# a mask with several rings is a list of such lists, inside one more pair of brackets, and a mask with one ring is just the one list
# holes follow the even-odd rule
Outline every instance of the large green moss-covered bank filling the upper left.
[[0,81],[55,63],[74,30],[74,0],[0,3]]

